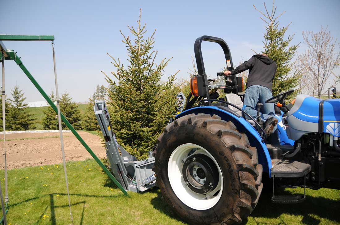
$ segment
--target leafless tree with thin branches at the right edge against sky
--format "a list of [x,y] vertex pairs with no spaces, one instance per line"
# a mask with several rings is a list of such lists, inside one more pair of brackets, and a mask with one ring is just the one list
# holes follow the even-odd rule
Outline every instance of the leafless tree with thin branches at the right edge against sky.
[[321,27],[321,31],[317,33],[302,32],[302,37],[308,49],[298,58],[308,73],[310,88],[315,90],[320,98],[329,76],[335,75],[333,71],[339,67],[340,52],[335,49],[337,39],[334,40],[330,32],[327,32],[327,27]]

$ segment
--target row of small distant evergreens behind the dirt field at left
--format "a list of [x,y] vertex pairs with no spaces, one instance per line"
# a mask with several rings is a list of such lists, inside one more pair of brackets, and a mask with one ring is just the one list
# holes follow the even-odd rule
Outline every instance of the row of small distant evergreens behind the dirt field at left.
[[[24,92],[19,86],[15,86],[11,90],[12,98],[5,97],[6,107],[6,131],[26,131],[34,130],[36,128],[36,119],[34,115],[30,113],[28,104],[24,103],[26,97]],[[50,99],[56,103],[56,97],[53,91],[51,91]],[[91,98],[88,100],[88,104],[85,109],[85,113],[82,116],[77,104],[72,101],[69,93],[65,92],[60,97],[60,111],[71,123],[71,125],[78,130],[96,131],[100,130],[94,113],[95,100],[103,100],[107,97],[106,88],[101,85],[97,85]],[[48,106],[43,111],[44,118],[42,120],[43,129],[58,129],[57,113],[51,106]],[[3,131],[3,115],[2,115],[2,96],[0,95],[0,131]],[[67,129],[67,126],[62,122],[62,128]]]

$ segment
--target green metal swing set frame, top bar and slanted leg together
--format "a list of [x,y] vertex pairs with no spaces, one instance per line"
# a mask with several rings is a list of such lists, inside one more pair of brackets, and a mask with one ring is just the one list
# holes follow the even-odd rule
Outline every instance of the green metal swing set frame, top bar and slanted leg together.
[[[22,64],[22,61],[20,57],[14,52],[14,50],[6,50],[5,46],[2,44],[1,40],[46,40],[46,41],[53,41],[54,36],[53,35],[0,35],[0,57],[1,52],[4,54],[5,60],[14,60],[14,62],[21,68],[21,70],[26,74],[26,76],[30,79],[30,81],[33,83],[33,85],[38,89],[38,91],[41,93],[41,95],[46,99],[46,101],[50,104],[50,106],[53,108],[53,110],[57,113],[57,107],[52,102],[52,100],[48,97],[46,92],[43,90],[43,88],[40,87],[38,82],[34,79],[32,74],[28,71],[28,69]],[[106,168],[104,163],[100,161],[100,159],[96,156],[96,154],[90,149],[90,147],[85,143],[85,141],[81,138],[81,136],[77,133],[77,131],[73,128],[73,126],[68,122],[68,120],[65,118],[65,116],[61,113],[61,119],[64,121],[66,126],[71,130],[71,132],[74,134],[74,136],[80,141],[80,143],[85,147],[85,149],[90,153],[92,158],[96,160],[96,162],[99,164],[99,166],[105,171],[105,173],[111,178],[111,180],[117,185],[117,187],[124,193],[124,195],[130,197],[128,192],[119,184],[117,179],[112,175],[112,173]],[[8,206],[7,206],[8,211]]]

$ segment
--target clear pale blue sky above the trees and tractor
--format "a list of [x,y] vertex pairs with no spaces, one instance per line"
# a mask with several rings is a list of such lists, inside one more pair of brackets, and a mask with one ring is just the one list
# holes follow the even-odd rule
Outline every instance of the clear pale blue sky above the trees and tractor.
[[[265,1],[269,10],[272,1]],[[158,62],[173,57],[165,70],[166,77],[180,70],[178,78],[187,78],[191,68],[193,44],[197,37],[210,35],[223,38],[231,49],[234,66],[262,50],[265,23],[253,4],[264,11],[263,1],[17,1],[2,0],[1,34],[53,34],[58,85],[74,101],[87,101],[97,84],[107,86],[103,70],[114,71],[106,53],[125,62],[127,52],[119,30],[129,35],[127,25],[136,26],[139,8],[142,23],[147,23],[149,35],[154,29],[154,49]],[[340,1],[276,1],[280,26],[292,22],[287,35],[295,34],[292,44],[301,42],[298,53],[306,49],[302,31],[321,30],[327,26],[340,40]],[[338,41],[339,42],[339,41]],[[4,41],[14,49],[38,83],[50,93],[54,89],[53,60],[50,42]],[[224,67],[222,50],[217,44],[202,46],[206,72],[215,76]],[[12,61],[5,62],[6,92],[15,84],[26,94],[27,102],[44,100]],[[337,71],[338,73],[339,71]],[[339,89],[340,87],[338,87]]]

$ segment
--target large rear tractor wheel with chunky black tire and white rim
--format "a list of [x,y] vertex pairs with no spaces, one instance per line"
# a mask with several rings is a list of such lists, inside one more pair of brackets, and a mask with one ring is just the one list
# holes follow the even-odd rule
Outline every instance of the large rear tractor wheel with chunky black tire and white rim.
[[[256,148],[219,116],[190,114],[176,119],[158,137],[153,155],[164,199],[189,224],[240,224],[258,202],[263,185]],[[197,164],[199,159],[208,166]],[[197,176],[199,170],[205,173]],[[203,183],[209,179],[215,184]],[[203,189],[197,189],[201,185]],[[211,192],[201,193],[209,187]]]

